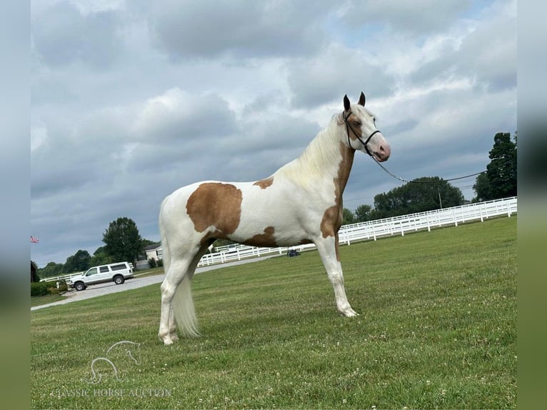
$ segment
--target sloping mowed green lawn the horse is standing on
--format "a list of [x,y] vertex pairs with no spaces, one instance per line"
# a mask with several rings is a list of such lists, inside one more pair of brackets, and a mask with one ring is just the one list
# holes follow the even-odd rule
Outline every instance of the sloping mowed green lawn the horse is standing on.
[[316,251],[196,274],[203,336],[172,346],[159,285],[32,311],[31,405],[514,409],[516,222],[341,246],[357,318]]

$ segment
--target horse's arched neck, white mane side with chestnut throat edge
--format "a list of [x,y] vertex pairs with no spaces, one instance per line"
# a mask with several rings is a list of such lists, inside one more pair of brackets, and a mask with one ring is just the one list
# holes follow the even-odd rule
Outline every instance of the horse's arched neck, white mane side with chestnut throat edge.
[[334,181],[337,194],[346,187],[355,150],[341,142],[342,131],[336,118],[303,151],[301,156],[282,166],[274,176],[283,176],[308,187],[314,181]]

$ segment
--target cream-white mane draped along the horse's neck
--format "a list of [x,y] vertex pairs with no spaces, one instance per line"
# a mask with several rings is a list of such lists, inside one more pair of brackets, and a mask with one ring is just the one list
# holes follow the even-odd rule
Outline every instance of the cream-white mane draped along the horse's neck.
[[274,174],[289,179],[293,183],[307,186],[308,182],[326,171],[327,166],[336,164],[340,158],[340,145],[338,144],[338,125],[341,114],[333,115],[331,122],[306,146],[301,156],[281,166]]

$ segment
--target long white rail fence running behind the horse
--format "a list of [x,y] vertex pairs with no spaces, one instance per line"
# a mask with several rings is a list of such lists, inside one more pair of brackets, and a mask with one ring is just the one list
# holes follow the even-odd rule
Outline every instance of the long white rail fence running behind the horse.
[[[511,216],[517,211],[517,197],[513,196],[506,199],[496,199],[495,201],[478,202],[476,204],[467,204],[462,206],[453,206],[452,208],[437,209],[435,211],[420,212],[419,214],[410,214],[395,216],[393,218],[377,219],[376,221],[359,222],[358,224],[344,225],[338,231],[338,239],[341,245],[350,245],[351,242],[366,241],[381,238],[383,236],[402,235],[406,232],[425,230],[431,231],[432,228],[440,226],[458,226],[469,221],[484,221],[494,216]],[[256,248],[246,245],[221,246],[212,254],[205,254],[201,257],[198,266],[209,266],[214,264],[224,264],[231,261],[241,261],[241,259],[255,256],[264,256],[269,254],[286,254],[288,249],[305,251],[315,248],[314,244],[281,247],[281,248]],[[80,272],[81,273],[81,272]],[[57,276],[55,278],[42,279],[48,281],[58,281],[59,279],[69,279],[76,274]]]

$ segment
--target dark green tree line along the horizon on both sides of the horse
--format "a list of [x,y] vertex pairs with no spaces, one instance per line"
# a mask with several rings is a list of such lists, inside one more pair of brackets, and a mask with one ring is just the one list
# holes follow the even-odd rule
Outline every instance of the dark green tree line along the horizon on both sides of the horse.
[[[513,139],[514,141],[509,133],[498,133],[494,136],[493,147],[488,154],[491,161],[486,166],[486,171],[476,177],[473,185],[476,193],[474,202],[516,196],[516,132]],[[461,190],[449,181],[438,176],[423,176],[374,196],[373,206],[362,204],[355,211],[344,208],[343,224],[432,211],[459,206],[463,202]],[[93,255],[80,249],[69,256],[64,264],[49,262],[44,268],[38,269],[39,276],[44,278],[85,271],[91,266],[119,261],[136,263],[144,247],[154,244],[153,241],[142,239],[135,222],[126,217],[111,221],[104,231],[102,241],[104,246],[97,248]]]

